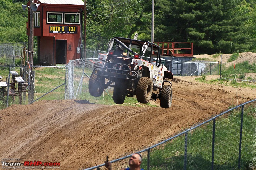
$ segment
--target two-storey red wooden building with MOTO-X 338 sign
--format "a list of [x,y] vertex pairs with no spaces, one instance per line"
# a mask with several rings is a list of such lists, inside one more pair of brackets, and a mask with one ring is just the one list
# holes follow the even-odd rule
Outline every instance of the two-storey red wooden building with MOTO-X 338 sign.
[[[34,36],[38,37],[40,61],[67,64],[81,57],[82,0],[34,0]],[[27,3],[30,6],[30,1]],[[27,35],[29,36],[29,12]]]

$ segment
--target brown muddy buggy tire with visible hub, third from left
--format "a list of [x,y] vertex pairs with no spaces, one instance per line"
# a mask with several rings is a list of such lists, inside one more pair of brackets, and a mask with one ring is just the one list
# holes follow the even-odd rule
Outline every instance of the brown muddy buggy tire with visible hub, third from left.
[[153,90],[153,82],[148,77],[140,78],[137,89],[136,89],[136,98],[140,103],[148,103]]

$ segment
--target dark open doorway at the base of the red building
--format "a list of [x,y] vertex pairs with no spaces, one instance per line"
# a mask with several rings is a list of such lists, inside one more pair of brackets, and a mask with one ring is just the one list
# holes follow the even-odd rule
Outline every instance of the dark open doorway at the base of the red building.
[[67,40],[56,40],[56,64],[66,64]]

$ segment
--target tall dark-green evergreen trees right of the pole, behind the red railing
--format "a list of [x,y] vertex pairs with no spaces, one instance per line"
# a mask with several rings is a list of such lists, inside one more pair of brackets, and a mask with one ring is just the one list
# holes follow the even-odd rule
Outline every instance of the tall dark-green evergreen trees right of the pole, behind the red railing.
[[155,41],[193,42],[194,54],[230,53],[231,38],[236,51],[252,47],[243,0],[161,0],[155,13]]

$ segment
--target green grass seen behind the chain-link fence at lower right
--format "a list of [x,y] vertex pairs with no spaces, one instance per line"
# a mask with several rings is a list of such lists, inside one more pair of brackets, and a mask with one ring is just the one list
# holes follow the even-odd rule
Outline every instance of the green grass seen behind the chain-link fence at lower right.
[[[241,168],[252,163],[255,138],[253,104],[244,107]],[[214,169],[238,169],[241,108],[216,119]],[[188,133],[187,169],[211,169],[213,121]],[[185,135],[176,137],[150,152],[150,169],[183,169]],[[147,169],[147,157],[142,168]]]

